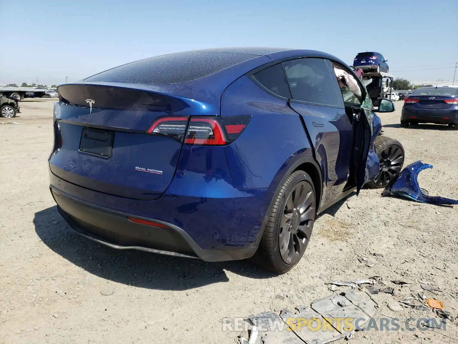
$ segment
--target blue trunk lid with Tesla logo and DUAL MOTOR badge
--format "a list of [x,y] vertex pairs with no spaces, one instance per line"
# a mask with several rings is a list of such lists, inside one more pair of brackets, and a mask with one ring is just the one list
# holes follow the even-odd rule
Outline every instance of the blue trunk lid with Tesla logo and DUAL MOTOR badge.
[[164,193],[182,147],[180,138],[147,130],[159,117],[183,121],[205,108],[179,96],[113,85],[68,84],[59,94],[51,172],[87,189],[141,200]]

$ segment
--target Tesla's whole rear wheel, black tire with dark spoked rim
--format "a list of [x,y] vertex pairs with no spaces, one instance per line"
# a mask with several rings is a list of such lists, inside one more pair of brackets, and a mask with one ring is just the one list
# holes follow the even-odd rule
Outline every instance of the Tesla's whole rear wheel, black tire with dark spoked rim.
[[266,215],[255,261],[269,271],[287,272],[304,255],[316,218],[316,193],[310,176],[304,171],[293,172],[275,194]]

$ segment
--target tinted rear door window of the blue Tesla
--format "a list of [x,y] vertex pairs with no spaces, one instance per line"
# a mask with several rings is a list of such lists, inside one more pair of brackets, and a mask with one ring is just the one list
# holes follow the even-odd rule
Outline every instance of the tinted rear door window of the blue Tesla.
[[294,100],[338,105],[334,80],[323,59],[305,58],[283,62]]

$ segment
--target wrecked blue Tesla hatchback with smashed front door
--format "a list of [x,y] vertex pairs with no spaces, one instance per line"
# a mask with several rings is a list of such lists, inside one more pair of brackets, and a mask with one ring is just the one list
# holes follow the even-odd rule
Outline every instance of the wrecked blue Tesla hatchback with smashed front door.
[[49,157],[57,209],[76,232],[118,249],[204,261],[255,255],[285,272],[317,213],[401,169],[379,167],[381,122],[361,108],[360,80],[318,51],[182,52],[58,91]]

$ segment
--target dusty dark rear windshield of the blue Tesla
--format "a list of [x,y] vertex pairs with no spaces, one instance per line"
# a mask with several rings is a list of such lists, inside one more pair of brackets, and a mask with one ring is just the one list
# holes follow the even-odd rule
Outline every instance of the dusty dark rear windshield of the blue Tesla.
[[85,81],[114,83],[185,83],[206,77],[257,55],[220,52],[181,52],[150,57],[98,73]]

